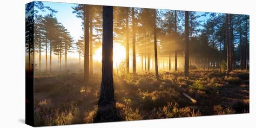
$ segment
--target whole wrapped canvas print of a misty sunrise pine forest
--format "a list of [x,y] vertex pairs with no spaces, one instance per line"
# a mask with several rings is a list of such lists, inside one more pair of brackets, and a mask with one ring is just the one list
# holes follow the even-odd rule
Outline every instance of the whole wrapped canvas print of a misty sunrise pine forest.
[[32,126],[249,113],[249,68],[249,15],[26,4]]

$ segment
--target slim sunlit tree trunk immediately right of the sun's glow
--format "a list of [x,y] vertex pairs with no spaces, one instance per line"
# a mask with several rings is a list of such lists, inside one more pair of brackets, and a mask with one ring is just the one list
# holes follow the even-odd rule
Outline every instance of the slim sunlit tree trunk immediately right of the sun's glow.
[[127,8],[127,16],[126,16],[126,71],[127,71],[127,74],[129,74],[129,10],[130,8]]

